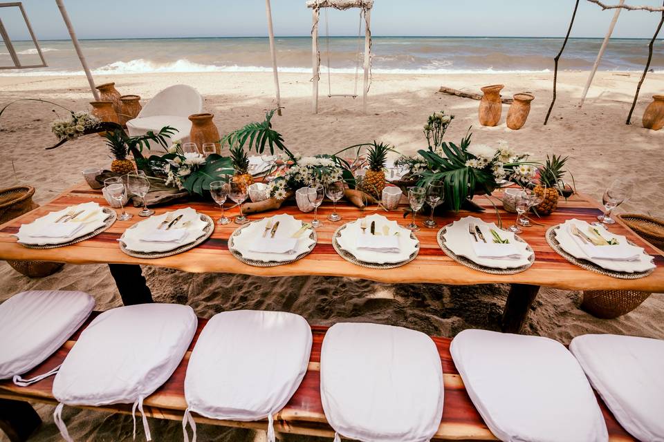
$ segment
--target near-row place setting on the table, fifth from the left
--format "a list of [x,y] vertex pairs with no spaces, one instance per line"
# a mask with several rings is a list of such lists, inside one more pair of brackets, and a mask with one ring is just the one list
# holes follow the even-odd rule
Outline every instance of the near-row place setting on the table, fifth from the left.
[[445,254],[471,269],[495,275],[513,275],[533,265],[535,252],[513,231],[467,216],[439,230],[438,244]]

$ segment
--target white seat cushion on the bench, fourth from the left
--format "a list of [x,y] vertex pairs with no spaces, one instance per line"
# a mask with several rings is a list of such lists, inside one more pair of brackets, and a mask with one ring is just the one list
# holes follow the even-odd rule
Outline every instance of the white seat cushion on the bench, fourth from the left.
[[433,340],[390,325],[339,323],[320,355],[320,396],[338,434],[424,442],[443,415],[443,369]]

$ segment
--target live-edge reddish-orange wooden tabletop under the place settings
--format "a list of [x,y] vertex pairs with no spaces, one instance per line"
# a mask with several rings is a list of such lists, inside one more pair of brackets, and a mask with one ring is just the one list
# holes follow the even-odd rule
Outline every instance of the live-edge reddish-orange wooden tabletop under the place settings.
[[[500,193],[501,191],[497,191],[495,195],[500,198]],[[337,204],[337,210],[342,215],[343,220],[340,222],[329,222],[325,218],[331,213],[332,204],[325,202],[318,211],[319,218],[324,222],[324,226],[317,229],[318,244],[316,244],[312,253],[293,264],[277,267],[252,267],[233,258],[228,251],[228,238],[239,227],[233,223],[225,226],[215,225],[212,237],[199,245],[199,247],[185,253],[154,260],[137,259],[127,256],[120,251],[117,240],[125,229],[143,219],[138,217],[139,209],[134,209],[133,207],[127,209],[129,213],[134,214],[131,220],[124,222],[117,221],[110,229],[100,235],[67,247],[28,249],[21,246],[21,244],[17,244],[16,238],[11,236],[25,222],[31,222],[50,211],[60,210],[71,204],[88,201],[96,201],[102,206],[107,206],[107,202],[104,200],[101,191],[94,191],[87,184],[81,182],[71,189],[62,192],[48,204],[44,204],[44,206],[26,213],[15,220],[2,224],[0,226],[0,259],[45,260],[72,264],[145,264],[171,267],[196,273],[228,272],[258,276],[349,276],[381,282],[431,282],[451,285],[507,282],[544,285],[571,290],[632,289],[655,292],[664,291],[664,256],[662,256],[662,252],[636,236],[624,224],[614,224],[610,227],[610,230],[627,236],[634,243],[645,247],[647,253],[655,257],[657,268],[652,275],[646,278],[622,280],[587,271],[567,262],[549,247],[544,238],[548,227],[560,224],[570,218],[592,222],[601,213],[598,204],[584,195],[573,195],[567,201],[561,199],[557,211],[548,217],[537,220],[538,222],[542,222],[544,226],[535,225],[524,229],[524,233],[521,236],[535,250],[535,264],[522,273],[508,276],[483,273],[454,262],[454,260],[445,255],[436,241],[438,229],[426,229],[422,227],[416,233],[420,240],[419,255],[414,261],[398,269],[376,270],[353,265],[338,256],[333,249],[331,244],[332,235],[335,229],[338,229],[344,222],[356,220],[361,216],[371,213],[380,213],[391,220],[405,224],[407,220],[403,219],[402,210],[402,208],[406,207],[405,205],[398,210],[389,212],[379,209],[375,205],[370,206],[364,211],[360,211],[355,206],[340,201]],[[450,212],[444,216],[437,216],[436,222],[440,226],[443,226],[466,215],[474,215],[486,221],[497,221],[495,210],[488,199],[476,197],[474,198],[474,202],[485,207],[486,211],[482,213],[466,211],[461,211],[460,213]],[[216,206],[212,202],[183,202],[181,204],[159,207],[156,209],[156,212],[163,213],[187,206],[210,215],[214,220],[221,214],[219,206]],[[227,211],[228,216],[236,215],[237,213],[238,209]],[[311,221],[313,219],[313,213],[302,213],[295,206],[295,202],[287,202],[279,211],[258,213],[250,215],[249,218],[258,220],[264,216],[275,215],[276,213],[290,213],[299,220]],[[425,213],[427,213],[426,209]],[[504,224],[513,224],[515,215],[506,213],[502,209],[499,213]],[[418,215],[418,224],[421,225],[422,221],[423,215]]]

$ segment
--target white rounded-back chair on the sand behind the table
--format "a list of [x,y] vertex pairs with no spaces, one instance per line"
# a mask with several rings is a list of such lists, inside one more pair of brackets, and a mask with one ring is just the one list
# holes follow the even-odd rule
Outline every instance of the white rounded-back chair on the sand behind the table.
[[[203,111],[203,97],[198,91],[185,84],[165,88],[155,95],[138,113],[138,117],[127,122],[129,135],[145,135],[148,131],[157,133],[164,126],[172,126],[178,132],[172,140],[189,141],[192,122],[189,117]],[[165,153],[163,148],[150,142],[149,154]],[[146,155],[147,156],[147,155]]]

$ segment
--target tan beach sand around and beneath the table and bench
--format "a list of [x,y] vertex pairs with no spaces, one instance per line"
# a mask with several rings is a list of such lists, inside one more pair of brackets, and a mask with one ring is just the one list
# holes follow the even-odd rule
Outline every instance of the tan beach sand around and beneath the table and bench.
[[[362,113],[360,98],[326,97],[326,78],[321,83],[320,113],[311,113],[311,75],[282,74],[284,115],[273,119],[291,151],[303,154],[331,153],[360,142],[381,140],[402,153],[425,147],[422,126],[427,115],[445,109],[456,119],[445,135],[458,142],[470,126],[474,142],[493,144],[504,139],[517,151],[535,158],[546,153],[569,155],[569,170],[579,191],[598,200],[615,177],[636,182],[634,196],[618,211],[636,211],[664,218],[664,130],[641,127],[640,119],[654,93],[664,90],[664,75],[649,74],[641,88],[631,126],[625,118],[640,75],[600,72],[582,109],[576,105],[587,73],[560,73],[557,102],[547,126],[544,115],[551,101],[552,73],[482,75],[374,75],[369,93],[369,112]],[[275,107],[270,73],[170,73],[95,77],[101,84],[115,81],[123,94],[149,99],[176,83],[190,84],[205,97],[205,111],[214,113],[221,133],[260,121],[266,109]],[[353,75],[333,77],[334,93],[350,93]],[[483,127],[477,120],[479,102],[437,93],[441,85],[479,92],[486,84],[505,84],[504,96],[522,91],[535,94],[526,126],[506,128],[507,107],[499,126]],[[361,88],[361,86],[360,86]],[[42,98],[68,108],[84,109],[91,93],[84,77],[0,77],[0,104],[19,98]],[[33,102],[12,105],[0,118],[0,187],[32,184],[36,202],[46,202],[81,180],[89,166],[110,164],[102,138],[96,135],[69,142],[53,151],[49,123],[52,106]],[[58,111],[61,116],[64,115]],[[15,162],[16,175],[12,171]],[[448,287],[439,285],[386,285],[350,278],[258,278],[233,274],[190,274],[172,269],[144,267],[158,302],[191,305],[196,314],[209,318],[219,311],[266,309],[292,311],[310,323],[331,325],[368,321],[401,325],[427,334],[453,337],[466,328],[499,329],[507,287]],[[97,309],[120,305],[120,297],[106,266],[66,265],[48,278],[31,280],[6,263],[0,264],[0,300],[28,289],[76,289],[97,300]],[[664,295],[653,294],[630,314],[600,320],[579,309],[581,294],[547,289],[540,291],[524,327],[524,333],[548,336],[569,343],[585,333],[615,333],[664,338]],[[35,405],[44,419],[31,440],[59,441],[53,423],[53,407]],[[131,416],[65,407],[64,421],[77,441],[129,441]],[[150,419],[154,440],[181,441],[179,422]],[[199,425],[205,441],[261,440],[261,434]],[[6,441],[0,435],[0,441]],[[139,436],[140,440],[141,436]],[[257,439],[255,439],[257,438]],[[316,438],[284,436],[286,441]],[[320,439],[324,440],[324,439]]]

